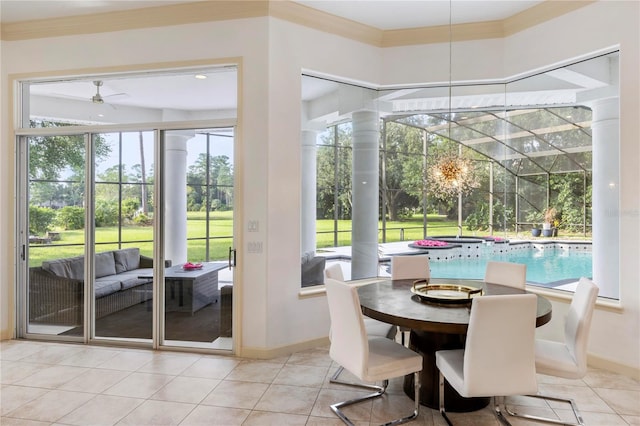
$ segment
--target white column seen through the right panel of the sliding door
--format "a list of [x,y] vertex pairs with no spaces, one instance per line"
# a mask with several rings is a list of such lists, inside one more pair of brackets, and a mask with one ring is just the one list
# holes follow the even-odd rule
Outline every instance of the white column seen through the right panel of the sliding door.
[[187,260],[187,140],[167,132],[165,137],[165,259],[173,265]]

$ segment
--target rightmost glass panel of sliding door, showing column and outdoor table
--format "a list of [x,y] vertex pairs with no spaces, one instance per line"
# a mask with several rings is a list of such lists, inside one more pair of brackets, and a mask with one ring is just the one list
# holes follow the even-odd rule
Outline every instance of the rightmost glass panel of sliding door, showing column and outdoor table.
[[164,135],[164,344],[231,350],[234,129]]

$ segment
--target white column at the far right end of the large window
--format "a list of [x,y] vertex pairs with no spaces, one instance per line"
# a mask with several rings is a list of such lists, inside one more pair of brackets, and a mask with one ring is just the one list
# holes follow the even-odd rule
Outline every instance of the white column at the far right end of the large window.
[[600,296],[619,297],[620,106],[619,98],[596,101],[592,109],[593,281]]

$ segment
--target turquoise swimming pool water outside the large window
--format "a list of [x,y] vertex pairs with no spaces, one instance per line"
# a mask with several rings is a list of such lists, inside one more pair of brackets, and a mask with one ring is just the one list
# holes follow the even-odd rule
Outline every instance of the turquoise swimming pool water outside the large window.
[[483,279],[489,260],[524,263],[527,265],[527,282],[544,286],[591,278],[592,256],[590,252],[573,252],[563,249],[526,249],[510,253],[496,253],[487,258],[431,261],[433,278]]

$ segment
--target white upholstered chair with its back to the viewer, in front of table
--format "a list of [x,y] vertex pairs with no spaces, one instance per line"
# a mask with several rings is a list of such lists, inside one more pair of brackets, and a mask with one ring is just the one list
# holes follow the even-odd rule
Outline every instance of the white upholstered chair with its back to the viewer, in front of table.
[[440,413],[447,423],[444,380],[465,398],[494,397],[504,424],[504,397],[536,393],[537,296],[509,294],[473,299],[464,349],[436,352],[440,371]]

